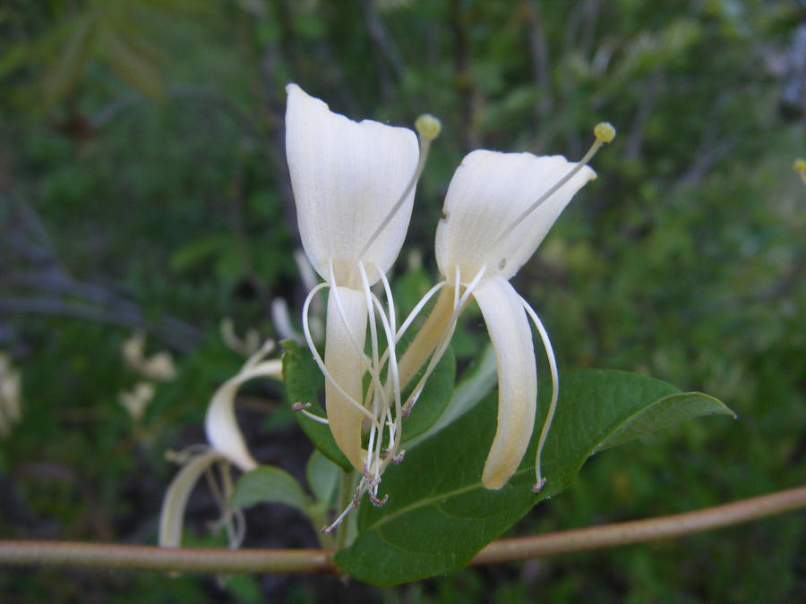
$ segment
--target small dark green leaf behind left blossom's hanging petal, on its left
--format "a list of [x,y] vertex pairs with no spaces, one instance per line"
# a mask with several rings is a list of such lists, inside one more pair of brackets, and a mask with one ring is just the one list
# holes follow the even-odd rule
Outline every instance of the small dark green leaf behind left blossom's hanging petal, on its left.
[[[310,403],[307,408],[308,413],[313,413],[319,417],[326,417],[322,405],[319,404],[319,393],[324,389],[324,378],[322,371],[316,366],[311,353],[303,351],[294,340],[282,342],[285,352],[283,353],[283,379],[286,384],[286,399],[288,404]],[[304,433],[313,442],[313,446],[322,451],[322,454],[330,461],[339,464],[346,472],[352,472],[353,465],[341,452],[330,428],[323,423],[313,421],[303,413],[294,413],[297,423]]]

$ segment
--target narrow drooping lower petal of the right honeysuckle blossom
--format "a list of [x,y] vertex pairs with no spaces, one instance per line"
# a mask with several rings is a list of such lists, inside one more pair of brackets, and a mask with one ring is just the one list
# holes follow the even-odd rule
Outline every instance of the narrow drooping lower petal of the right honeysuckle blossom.
[[482,483],[487,489],[501,489],[518,469],[535,426],[535,349],[523,302],[508,281],[484,279],[473,295],[493,341],[498,369],[498,429]]

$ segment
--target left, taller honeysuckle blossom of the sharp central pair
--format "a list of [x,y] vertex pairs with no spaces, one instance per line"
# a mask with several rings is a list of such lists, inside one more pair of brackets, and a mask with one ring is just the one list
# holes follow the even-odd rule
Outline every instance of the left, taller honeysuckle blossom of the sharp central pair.
[[[382,467],[395,458],[400,433],[400,385],[394,345],[379,353],[378,325],[395,342],[394,303],[385,273],[406,236],[416,181],[427,143],[438,127],[426,120],[418,143],[407,128],[332,113],[296,84],[287,86],[286,153],[304,251],[324,283],[304,304],[307,343],[326,378],[327,422],[339,448],[369,485],[373,502]],[[423,123],[421,123],[423,125]],[[386,308],[370,290],[381,282]],[[328,287],[322,360],[310,335],[307,311]],[[364,353],[369,328],[372,356]],[[382,364],[389,378],[382,381]],[[372,386],[364,400],[363,378]],[[303,410],[304,411],[304,410]],[[369,445],[362,447],[362,424]],[[383,444],[385,443],[385,448]],[[383,450],[382,450],[383,449]]]

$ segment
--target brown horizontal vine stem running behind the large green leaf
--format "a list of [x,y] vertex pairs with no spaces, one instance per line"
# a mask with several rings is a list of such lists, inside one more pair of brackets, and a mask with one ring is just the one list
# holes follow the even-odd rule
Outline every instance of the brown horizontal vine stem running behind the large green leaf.
[[[497,540],[482,549],[471,564],[493,564],[680,537],[804,507],[806,487],[800,487],[685,514]],[[323,549],[231,551],[26,540],[0,540],[0,564],[223,574],[339,572],[332,552]]]

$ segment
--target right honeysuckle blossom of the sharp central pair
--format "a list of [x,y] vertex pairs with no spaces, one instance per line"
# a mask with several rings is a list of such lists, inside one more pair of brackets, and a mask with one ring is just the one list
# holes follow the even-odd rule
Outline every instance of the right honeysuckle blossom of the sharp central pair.
[[587,160],[613,135],[612,126],[600,124],[594,147],[579,164],[561,156],[477,150],[465,157],[450,181],[436,234],[437,265],[449,287],[442,290],[401,358],[399,375],[405,382],[433,352],[407,401],[410,410],[472,296],[484,316],[498,370],[498,426],[482,474],[488,489],[501,489],[510,479],[532,436],[537,380],[528,319],[543,340],[553,381],[552,402],[538,443],[535,490],[544,484],[540,451],[557,402],[557,368],[540,319],[509,280],[534,254],[573,195],[596,178]]

